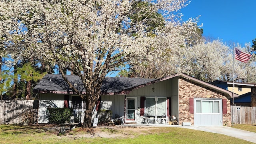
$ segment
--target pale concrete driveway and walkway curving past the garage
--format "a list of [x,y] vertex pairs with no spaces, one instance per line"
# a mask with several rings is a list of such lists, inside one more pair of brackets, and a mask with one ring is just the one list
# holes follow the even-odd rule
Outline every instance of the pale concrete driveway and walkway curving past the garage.
[[234,138],[240,138],[242,140],[247,140],[249,142],[256,143],[256,133],[248,132],[245,130],[239,130],[236,128],[228,126],[180,126],[180,125],[168,125],[168,124],[124,124],[117,126],[134,126],[134,127],[179,127],[179,128],[189,128],[193,130],[201,130],[205,132],[212,132],[217,134],[224,134],[227,136],[232,136]]

